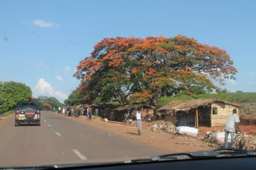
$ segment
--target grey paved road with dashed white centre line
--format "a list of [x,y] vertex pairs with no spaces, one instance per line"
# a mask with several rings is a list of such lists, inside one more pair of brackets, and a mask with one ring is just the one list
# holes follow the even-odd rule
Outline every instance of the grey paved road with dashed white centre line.
[[[89,122],[89,121],[88,121]],[[47,164],[83,159],[109,159],[161,155],[164,150],[109,136],[90,124],[42,111],[41,126],[14,126],[13,117],[0,124],[0,167]]]

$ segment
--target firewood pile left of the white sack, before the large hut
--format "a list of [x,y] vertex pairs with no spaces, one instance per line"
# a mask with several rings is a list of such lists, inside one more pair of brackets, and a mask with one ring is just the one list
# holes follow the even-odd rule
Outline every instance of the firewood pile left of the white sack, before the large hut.
[[150,131],[164,130],[168,132],[175,132],[176,127],[172,122],[164,122],[163,120],[158,120],[150,125]]

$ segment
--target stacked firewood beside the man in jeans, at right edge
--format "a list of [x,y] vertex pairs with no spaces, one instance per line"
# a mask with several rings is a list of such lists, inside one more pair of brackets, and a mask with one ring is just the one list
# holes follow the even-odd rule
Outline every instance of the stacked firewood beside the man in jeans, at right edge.
[[242,131],[237,132],[234,148],[243,150],[255,150],[256,149],[256,132]]

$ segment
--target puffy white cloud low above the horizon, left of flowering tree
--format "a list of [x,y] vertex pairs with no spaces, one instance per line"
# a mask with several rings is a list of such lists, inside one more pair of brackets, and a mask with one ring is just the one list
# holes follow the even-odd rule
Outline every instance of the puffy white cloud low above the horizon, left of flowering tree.
[[48,96],[48,97],[56,97],[59,101],[63,101],[63,99],[67,99],[68,96],[63,94],[60,91],[54,91],[51,84],[47,83],[44,78],[40,78],[36,86],[32,89],[33,96]]

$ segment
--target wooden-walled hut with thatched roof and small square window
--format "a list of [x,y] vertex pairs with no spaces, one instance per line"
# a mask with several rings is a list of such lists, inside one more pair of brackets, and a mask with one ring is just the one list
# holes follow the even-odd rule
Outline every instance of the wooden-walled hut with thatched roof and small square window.
[[191,101],[172,101],[159,110],[172,113],[172,118],[175,117],[177,126],[216,127],[225,125],[233,109],[238,110],[241,107],[239,104],[219,99],[193,99]]

